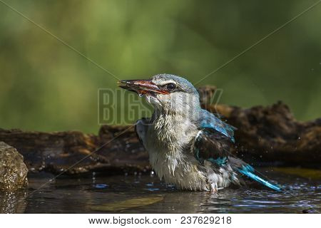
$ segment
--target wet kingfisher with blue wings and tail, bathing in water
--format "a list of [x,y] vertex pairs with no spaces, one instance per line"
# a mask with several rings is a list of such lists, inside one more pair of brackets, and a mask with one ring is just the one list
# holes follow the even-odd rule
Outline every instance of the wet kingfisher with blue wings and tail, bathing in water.
[[151,167],[179,190],[218,192],[248,180],[281,191],[253,166],[230,153],[235,127],[200,106],[198,90],[183,77],[158,74],[150,79],[118,81],[153,106],[153,115],[135,128]]

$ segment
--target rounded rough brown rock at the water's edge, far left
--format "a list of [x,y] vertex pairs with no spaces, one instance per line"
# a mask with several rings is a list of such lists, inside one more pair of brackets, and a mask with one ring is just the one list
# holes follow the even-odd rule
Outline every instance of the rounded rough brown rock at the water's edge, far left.
[[0,190],[11,192],[28,185],[24,157],[10,145],[0,142]]

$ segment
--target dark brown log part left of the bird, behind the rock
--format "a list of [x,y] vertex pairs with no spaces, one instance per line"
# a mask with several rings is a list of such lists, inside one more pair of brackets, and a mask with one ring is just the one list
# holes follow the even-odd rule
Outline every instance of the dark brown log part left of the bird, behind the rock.
[[99,135],[0,129],[0,141],[19,150],[31,172],[78,174],[103,170],[115,174],[150,170],[148,154],[133,126],[103,126]]

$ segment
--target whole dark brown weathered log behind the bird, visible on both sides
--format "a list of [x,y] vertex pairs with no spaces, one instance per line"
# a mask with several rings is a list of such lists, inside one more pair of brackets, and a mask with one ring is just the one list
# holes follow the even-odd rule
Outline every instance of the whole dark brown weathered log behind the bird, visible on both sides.
[[[253,162],[320,167],[321,118],[300,122],[290,109],[278,102],[267,107],[238,108],[213,105],[215,87],[199,89],[203,108],[219,113],[238,130],[231,151]],[[104,125],[98,135],[76,131],[41,133],[0,129],[0,141],[24,155],[31,172],[105,174],[148,172],[148,153],[136,137],[133,126]],[[79,162],[80,161],[80,162]]]

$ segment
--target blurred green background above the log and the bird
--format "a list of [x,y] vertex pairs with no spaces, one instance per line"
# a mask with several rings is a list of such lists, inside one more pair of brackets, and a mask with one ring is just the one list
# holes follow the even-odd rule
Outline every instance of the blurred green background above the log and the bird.
[[[173,73],[197,82],[311,1],[4,0],[121,79]],[[116,79],[0,3],[0,128],[97,133],[97,90]],[[221,103],[282,100],[321,115],[321,4],[198,86]]]

